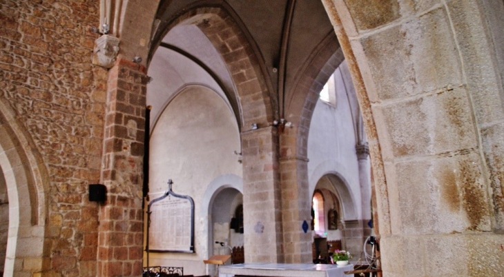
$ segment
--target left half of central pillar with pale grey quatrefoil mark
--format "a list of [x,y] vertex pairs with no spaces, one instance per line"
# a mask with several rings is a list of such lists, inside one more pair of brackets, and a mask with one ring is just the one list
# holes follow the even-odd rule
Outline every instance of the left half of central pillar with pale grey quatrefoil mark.
[[282,263],[282,212],[275,127],[242,132],[246,263]]

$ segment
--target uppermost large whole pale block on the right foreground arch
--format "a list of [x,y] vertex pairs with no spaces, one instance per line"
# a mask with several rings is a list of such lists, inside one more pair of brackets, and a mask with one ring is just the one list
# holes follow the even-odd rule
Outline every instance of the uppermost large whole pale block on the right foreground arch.
[[463,83],[461,61],[443,8],[361,39],[382,101]]

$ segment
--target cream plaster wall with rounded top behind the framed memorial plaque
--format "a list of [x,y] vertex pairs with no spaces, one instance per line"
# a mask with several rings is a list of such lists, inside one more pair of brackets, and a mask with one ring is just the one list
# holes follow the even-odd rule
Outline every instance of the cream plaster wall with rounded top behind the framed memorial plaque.
[[[240,134],[228,103],[202,85],[184,87],[161,113],[151,134],[150,198],[161,196],[172,179],[173,191],[195,201],[195,254],[150,254],[150,265],[184,267],[202,275],[209,247],[209,189],[240,192]],[[215,194],[213,192],[210,195]],[[211,238],[210,238],[211,239]]]

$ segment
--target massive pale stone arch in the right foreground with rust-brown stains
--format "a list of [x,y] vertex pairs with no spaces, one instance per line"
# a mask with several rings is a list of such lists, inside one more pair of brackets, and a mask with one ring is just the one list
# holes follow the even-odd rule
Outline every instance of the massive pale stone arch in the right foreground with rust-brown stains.
[[494,38],[483,1],[424,4],[324,0],[367,122],[383,273],[496,276],[504,251],[488,165],[502,161],[504,113]]

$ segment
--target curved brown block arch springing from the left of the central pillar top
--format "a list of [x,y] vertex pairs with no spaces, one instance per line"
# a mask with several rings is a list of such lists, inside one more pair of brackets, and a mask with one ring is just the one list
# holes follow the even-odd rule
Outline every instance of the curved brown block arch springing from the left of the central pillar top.
[[[197,2],[183,9],[183,14],[175,14],[166,19],[165,25],[159,25],[153,35],[153,48],[150,57],[157,49],[166,33],[176,25],[197,25],[209,38],[221,55],[235,85],[237,95],[228,95],[239,105],[240,126],[242,131],[251,130],[253,123],[258,127],[271,125],[276,107],[269,74],[260,63],[260,52],[244,24],[224,1]],[[159,14],[158,10],[158,14]],[[149,58],[151,59],[151,58]]]

